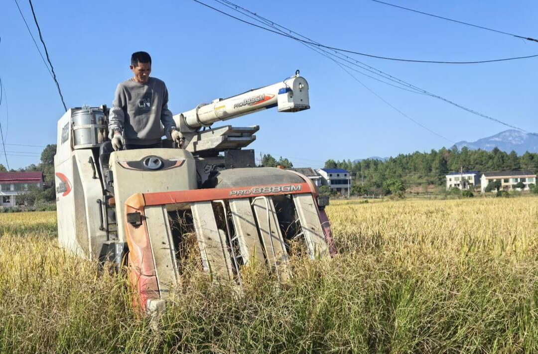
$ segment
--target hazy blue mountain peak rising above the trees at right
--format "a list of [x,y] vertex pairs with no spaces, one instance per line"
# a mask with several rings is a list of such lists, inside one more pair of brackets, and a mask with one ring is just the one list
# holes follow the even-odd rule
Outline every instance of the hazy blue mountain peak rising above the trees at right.
[[466,146],[470,150],[480,148],[486,151],[491,151],[494,147],[498,147],[501,151],[510,153],[513,150],[518,155],[522,155],[526,151],[538,152],[538,136],[510,129],[476,141],[460,141],[456,143],[456,146],[458,149]]

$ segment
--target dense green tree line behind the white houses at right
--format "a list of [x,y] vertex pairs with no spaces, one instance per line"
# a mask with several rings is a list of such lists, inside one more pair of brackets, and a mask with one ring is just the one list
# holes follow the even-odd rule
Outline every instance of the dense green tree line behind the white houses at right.
[[325,161],[325,168],[344,168],[356,172],[355,181],[365,186],[383,186],[389,178],[401,179],[407,186],[423,185],[425,183],[441,185],[448,172],[459,171],[498,171],[509,169],[538,170],[538,154],[529,153],[519,156],[514,151],[506,153],[494,148],[492,151],[461,150],[442,148],[427,152],[400,154],[386,161],[364,159],[361,161]]

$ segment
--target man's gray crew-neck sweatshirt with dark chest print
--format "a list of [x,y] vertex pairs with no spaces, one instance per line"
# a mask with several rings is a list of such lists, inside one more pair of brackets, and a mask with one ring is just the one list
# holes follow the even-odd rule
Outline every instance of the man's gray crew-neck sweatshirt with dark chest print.
[[161,123],[167,134],[175,127],[162,80],[150,77],[147,83],[139,83],[131,78],[118,84],[109,114],[111,139],[114,129],[119,129],[126,144],[156,144],[162,138]]

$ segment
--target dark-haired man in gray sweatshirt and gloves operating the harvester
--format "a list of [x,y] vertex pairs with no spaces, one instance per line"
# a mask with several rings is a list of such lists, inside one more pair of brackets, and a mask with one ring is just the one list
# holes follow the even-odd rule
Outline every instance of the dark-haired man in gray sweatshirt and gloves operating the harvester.
[[114,150],[162,147],[161,123],[167,137],[181,146],[168,109],[168,89],[162,80],[150,77],[151,56],[131,55],[134,76],[118,84],[109,114],[109,138]]

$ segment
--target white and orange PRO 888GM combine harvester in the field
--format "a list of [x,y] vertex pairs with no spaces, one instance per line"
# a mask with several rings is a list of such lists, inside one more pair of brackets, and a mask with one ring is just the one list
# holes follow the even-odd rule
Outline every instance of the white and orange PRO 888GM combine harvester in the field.
[[[310,108],[299,76],[175,115],[183,148],[113,151],[107,108],[72,108],[58,121],[54,157],[58,238],[80,257],[128,264],[141,309],[159,306],[179,279],[182,243],[174,220],[189,213],[202,266],[214,279],[241,282],[241,269],[260,262],[289,277],[289,241],[304,242],[310,258],[334,253],[324,207],[306,176],[256,167],[259,126],[206,129],[267,108]],[[202,130],[203,127],[203,130]]]

